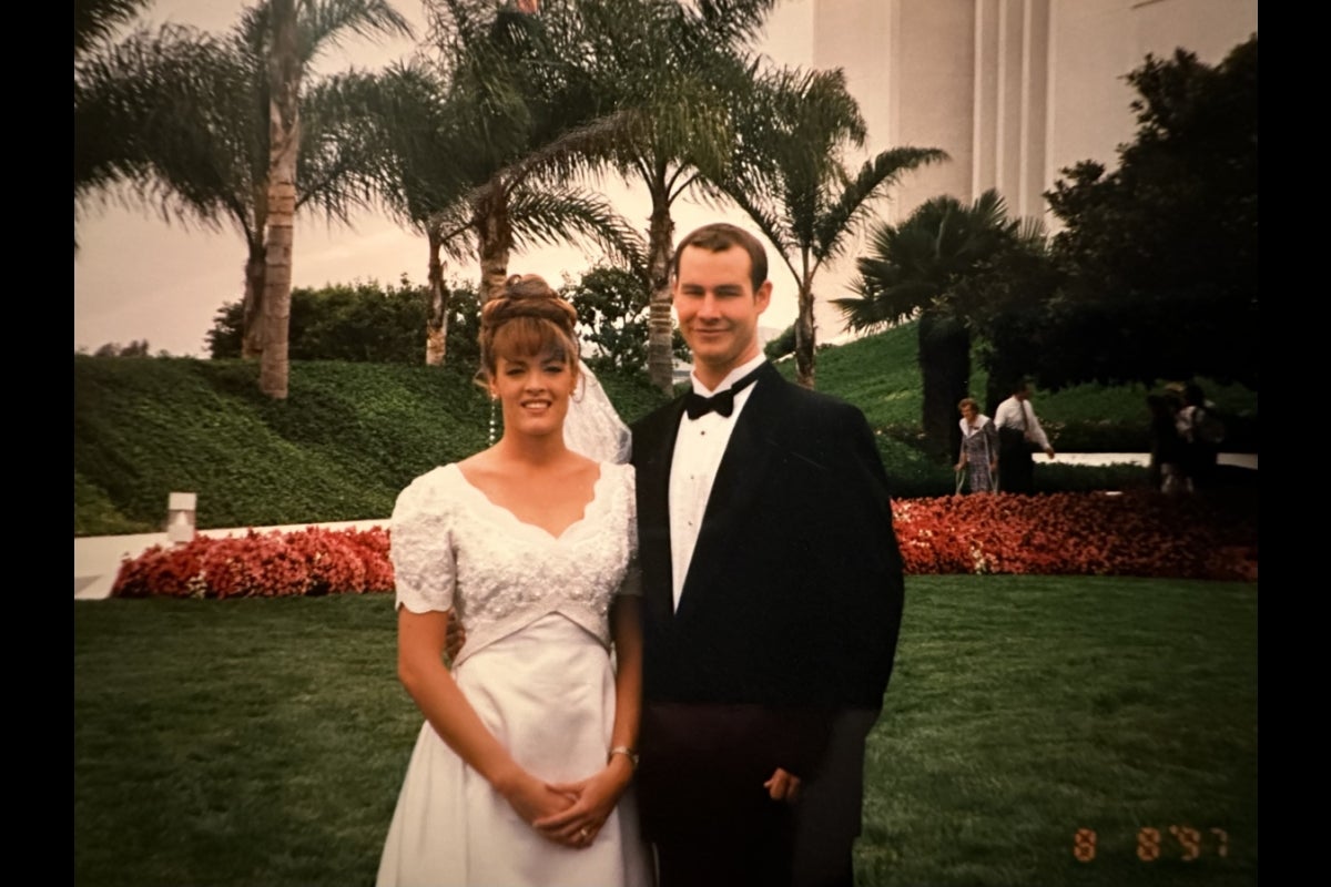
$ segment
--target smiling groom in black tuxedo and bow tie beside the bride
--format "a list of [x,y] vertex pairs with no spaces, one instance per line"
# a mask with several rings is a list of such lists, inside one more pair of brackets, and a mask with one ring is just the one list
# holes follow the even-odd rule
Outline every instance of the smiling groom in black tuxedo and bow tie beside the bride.
[[662,887],[853,882],[864,741],[901,557],[864,415],[763,356],[763,245],[707,225],[672,261],[692,392],[636,423],[639,803]]

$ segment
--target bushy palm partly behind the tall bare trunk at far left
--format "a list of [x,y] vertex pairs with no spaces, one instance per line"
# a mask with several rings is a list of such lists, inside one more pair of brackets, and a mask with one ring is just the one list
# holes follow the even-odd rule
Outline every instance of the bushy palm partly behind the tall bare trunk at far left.
[[[113,129],[138,152],[121,168],[130,195],[157,205],[164,218],[218,227],[232,222],[248,247],[245,354],[262,352],[264,237],[269,219],[272,0],[244,11],[224,36],[164,25],[138,31],[83,72],[88,108],[101,109],[76,133],[96,144]],[[297,0],[297,70],[305,78],[319,55],[349,35],[410,35],[387,0]],[[341,105],[370,78],[349,73],[310,82],[299,94],[302,126],[294,210],[318,206],[346,221],[363,205],[365,145]],[[76,160],[77,170],[77,160]],[[108,181],[102,178],[101,181]],[[76,172],[77,193],[77,172]]]

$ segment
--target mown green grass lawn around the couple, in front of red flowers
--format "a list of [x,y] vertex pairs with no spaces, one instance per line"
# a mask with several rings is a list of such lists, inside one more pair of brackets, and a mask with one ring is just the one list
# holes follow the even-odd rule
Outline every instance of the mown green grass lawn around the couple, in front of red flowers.
[[[906,596],[861,887],[1256,883],[1255,584]],[[373,883],[421,727],[394,625],[387,594],[76,601],[76,883]]]

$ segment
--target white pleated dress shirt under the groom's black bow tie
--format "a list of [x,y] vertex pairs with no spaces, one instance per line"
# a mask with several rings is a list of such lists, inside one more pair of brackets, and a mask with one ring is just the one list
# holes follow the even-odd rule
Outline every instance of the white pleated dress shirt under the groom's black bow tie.
[[[707,398],[727,391],[739,379],[757,370],[765,359],[759,354],[744,366],[735,367],[715,391],[708,391],[696,375],[691,376],[693,391]],[[708,412],[697,419],[689,419],[688,414],[680,416],[675,436],[675,457],[669,467],[669,548],[675,609],[679,609],[679,597],[684,592],[684,578],[693,560],[693,548],[697,545],[697,533],[707,512],[707,499],[712,495],[716,469],[721,464],[721,456],[725,455],[725,444],[731,440],[735,422],[740,418],[753,388],[752,384],[745,386],[735,395],[735,412],[729,416],[719,412]]]

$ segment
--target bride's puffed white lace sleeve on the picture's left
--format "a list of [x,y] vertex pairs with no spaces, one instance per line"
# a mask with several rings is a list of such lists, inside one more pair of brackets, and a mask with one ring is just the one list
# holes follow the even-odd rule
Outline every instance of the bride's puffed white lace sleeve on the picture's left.
[[457,493],[447,468],[435,468],[398,493],[389,531],[397,606],[413,613],[449,610],[457,585],[453,547]]

